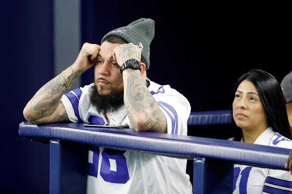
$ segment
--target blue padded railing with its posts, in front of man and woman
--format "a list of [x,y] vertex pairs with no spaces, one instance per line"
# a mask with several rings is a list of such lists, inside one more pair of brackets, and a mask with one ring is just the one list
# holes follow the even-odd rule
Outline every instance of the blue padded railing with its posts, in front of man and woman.
[[[83,124],[52,123],[33,125],[23,122],[19,125],[20,135],[31,139],[51,139],[50,193],[86,192],[86,169],[81,169],[79,173],[74,170],[74,174],[78,174],[79,184],[81,184],[74,184],[74,186],[78,185],[78,189],[75,187],[72,189],[72,184],[70,184],[70,178],[72,178],[72,181],[76,181],[73,176],[70,177],[70,169],[86,166],[87,164],[86,154],[88,154],[88,149],[86,147],[82,149],[83,151],[79,150],[80,156],[75,156],[79,153],[76,152],[76,148],[81,149],[82,145],[96,145],[182,159],[193,159],[194,193],[231,193],[234,163],[284,170],[284,164],[290,152],[289,149],[221,139],[136,132],[128,128],[91,128],[83,127]],[[68,146],[70,142],[78,143],[78,146]],[[78,159],[72,159],[72,157]],[[80,161],[84,161],[83,165],[75,164]],[[68,165],[71,167],[69,168]],[[64,169],[66,167],[67,169]],[[224,171],[223,173],[222,170]],[[219,184],[217,180],[221,180],[221,183]],[[70,188],[68,185],[70,185]]]

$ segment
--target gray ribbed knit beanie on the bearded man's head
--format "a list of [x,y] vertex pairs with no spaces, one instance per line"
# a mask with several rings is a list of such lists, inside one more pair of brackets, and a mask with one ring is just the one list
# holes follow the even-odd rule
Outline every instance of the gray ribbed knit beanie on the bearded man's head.
[[142,48],[141,57],[145,62],[146,69],[150,65],[150,43],[154,37],[154,20],[140,18],[127,26],[116,28],[107,33],[101,40],[101,44],[109,36],[117,36],[124,39],[127,43],[132,42]]

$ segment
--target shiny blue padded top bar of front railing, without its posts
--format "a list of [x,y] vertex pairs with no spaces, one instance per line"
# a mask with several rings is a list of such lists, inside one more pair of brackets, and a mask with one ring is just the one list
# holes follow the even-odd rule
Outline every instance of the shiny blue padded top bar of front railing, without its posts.
[[284,169],[290,149],[242,142],[155,132],[129,128],[84,127],[84,123],[19,124],[19,134],[28,138],[59,139],[109,148],[155,153],[184,159],[195,156],[234,163]]

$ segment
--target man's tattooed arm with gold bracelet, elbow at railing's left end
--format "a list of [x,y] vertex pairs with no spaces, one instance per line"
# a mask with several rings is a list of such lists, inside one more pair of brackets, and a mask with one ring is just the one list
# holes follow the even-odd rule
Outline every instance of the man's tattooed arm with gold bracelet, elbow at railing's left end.
[[[64,71],[68,85],[75,81],[80,72],[72,66]],[[33,124],[69,121],[67,112],[61,102],[62,95],[66,91],[61,74],[41,87],[23,110],[25,119]]]

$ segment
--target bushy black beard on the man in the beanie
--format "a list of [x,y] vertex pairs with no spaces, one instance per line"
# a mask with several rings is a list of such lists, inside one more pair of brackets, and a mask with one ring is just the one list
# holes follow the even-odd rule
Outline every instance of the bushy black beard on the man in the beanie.
[[124,105],[124,89],[116,89],[112,87],[110,94],[101,95],[98,93],[96,85],[92,85],[89,90],[89,99],[97,112],[116,111]]

